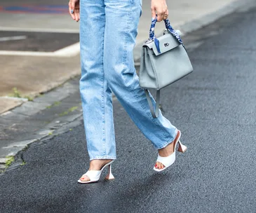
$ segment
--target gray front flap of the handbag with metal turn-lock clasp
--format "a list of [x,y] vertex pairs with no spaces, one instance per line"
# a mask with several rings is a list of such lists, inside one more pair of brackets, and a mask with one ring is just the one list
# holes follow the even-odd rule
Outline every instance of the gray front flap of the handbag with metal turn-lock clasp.
[[143,47],[148,47],[152,49],[154,55],[161,55],[162,53],[166,53],[168,50],[172,50],[173,48],[180,46],[180,42],[177,41],[177,39],[175,39],[175,37],[170,33],[166,33],[157,39],[159,40],[160,53],[157,50],[156,44],[154,43],[153,40],[146,41],[143,44]]

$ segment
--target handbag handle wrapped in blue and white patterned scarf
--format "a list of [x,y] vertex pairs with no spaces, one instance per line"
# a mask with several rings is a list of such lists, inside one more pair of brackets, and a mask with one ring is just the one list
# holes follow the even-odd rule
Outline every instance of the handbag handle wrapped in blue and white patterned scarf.
[[[156,35],[155,35],[156,22],[157,22],[157,15],[156,15],[156,18],[152,18],[151,27],[149,29],[149,40],[154,41],[154,43],[156,44],[157,51],[159,53],[161,53],[160,47],[159,47],[159,40],[156,39]],[[177,41],[179,41],[180,44],[182,44],[182,46],[184,46],[182,39],[180,38],[180,35],[170,25],[170,21],[168,19],[166,19],[166,20],[164,20],[164,22],[166,24],[166,29],[168,30],[168,32],[170,32],[170,34],[172,34],[175,37],[175,39],[177,39]]]

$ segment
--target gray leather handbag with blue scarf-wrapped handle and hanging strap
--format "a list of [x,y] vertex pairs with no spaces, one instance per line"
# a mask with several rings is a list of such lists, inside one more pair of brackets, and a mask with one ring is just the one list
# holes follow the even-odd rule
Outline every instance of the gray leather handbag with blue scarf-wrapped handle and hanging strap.
[[[164,20],[166,31],[156,39],[154,27],[156,18],[152,20],[149,39],[142,47],[139,82],[147,95],[147,102],[154,118],[159,116],[161,88],[174,83],[193,71],[193,67],[184,48],[180,35]],[[149,97],[148,89],[156,89],[156,109]]]

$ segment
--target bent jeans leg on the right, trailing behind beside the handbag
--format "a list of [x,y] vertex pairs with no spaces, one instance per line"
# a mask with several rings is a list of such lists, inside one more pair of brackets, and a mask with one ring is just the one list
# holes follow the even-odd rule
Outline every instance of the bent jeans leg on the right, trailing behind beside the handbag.
[[[162,149],[173,142],[177,129],[161,112],[158,118],[151,116],[147,97],[139,85],[133,48],[141,12],[140,0],[105,0],[105,5],[105,77],[137,127],[156,149]],[[151,99],[154,101],[152,96]]]

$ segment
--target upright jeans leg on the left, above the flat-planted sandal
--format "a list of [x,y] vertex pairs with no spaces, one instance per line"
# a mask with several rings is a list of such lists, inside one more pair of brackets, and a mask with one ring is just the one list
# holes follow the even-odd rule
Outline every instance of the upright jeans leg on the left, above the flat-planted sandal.
[[80,92],[90,160],[115,159],[112,91],[105,79],[104,0],[80,0]]

